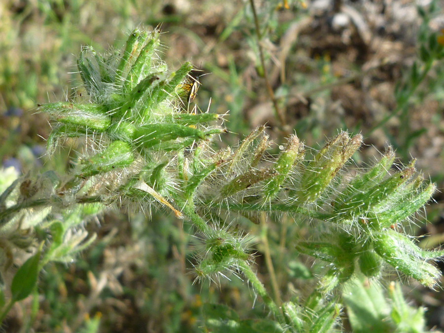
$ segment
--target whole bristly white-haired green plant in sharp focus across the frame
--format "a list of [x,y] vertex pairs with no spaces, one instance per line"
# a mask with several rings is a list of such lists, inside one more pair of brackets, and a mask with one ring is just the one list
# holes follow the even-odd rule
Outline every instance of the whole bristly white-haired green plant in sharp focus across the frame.
[[[436,285],[440,273],[432,261],[444,252],[419,249],[402,228],[435,190],[415,176],[413,162],[391,172],[389,148],[368,171],[344,177],[361,135],[341,132],[312,157],[292,135],[278,156],[269,157],[263,126],[236,147],[215,151],[211,141],[225,132],[217,124],[222,115],[188,112],[184,91],[192,66],[169,72],[156,55],[159,44],[157,30],[135,30],[121,52],[81,51],[77,66],[88,96],[39,107],[56,123],[49,153],[67,139],[83,144],[76,167],[64,178],[47,174],[13,183],[0,197],[1,227],[18,221],[24,210],[44,211],[44,217],[63,212],[60,220],[50,219],[53,242],[41,259],[63,261],[94,237],[85,241],[85,233],[72,234],[70,228],[79,223],[74,216],[111,205],[147,213],[168,208],[191,221],[199,235],[196,280],[244,275],[280,323],[278,331],[285,324],[297,332],[329,332],[339,310],[334,302],[321,306],[319,293],[359,271],[376,277],[383,265],[391,265],[425,286]],[[291,302],[280,308],[268,296],[252,269],[248,237],[225,222],[233,211],[285,212],[323,226],[316,238],[295,240],[300,253],[329,263],[304,308]],[[313,313],[316,318],[307,320]],[[251,323],[229,320],[257,332]],[[206,322],[212,330],[213,324],[219,325]]]

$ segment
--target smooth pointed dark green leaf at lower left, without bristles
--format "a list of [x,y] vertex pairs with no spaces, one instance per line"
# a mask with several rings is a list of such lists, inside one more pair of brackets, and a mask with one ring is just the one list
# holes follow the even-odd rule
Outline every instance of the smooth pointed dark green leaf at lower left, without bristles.
[[41,248],[37,253],[25,261],[17,270],[12,279],[11,294],[14,301],[28,297],[37,283],[38,262],[40,261]]

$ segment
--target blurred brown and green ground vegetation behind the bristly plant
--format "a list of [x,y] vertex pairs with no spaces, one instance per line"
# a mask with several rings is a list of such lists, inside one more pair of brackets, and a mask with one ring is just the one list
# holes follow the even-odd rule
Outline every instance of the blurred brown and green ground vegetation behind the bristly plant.
[[[358,167],[387,145],[396,148],[400,164],[416,158],[417,168],[441,189],[419,217],[431,223],[412,230],[433,236],[423,244],[434,248],[444,238],[444,66],[430,54],[431,40],[442,40],[443,7],[443,1],[427,0],[257,1],[264,69],[248,1],[3,0],[1,165],[22,174],[71,168],[69,148],[51,160],[44,156],[51,127],[45,115],[35,114],[37,104],[84,93],[75,66],[82,45],[121,47],[134,27],[159,26],[161,56],[170,67],[191,61],[194,76],[208,74],[199,78],[193,103],[204,111],[229,111],[226,126],[235,135],[221,145],[235,144],[261,124],[275,152],[288,133],[296,131],[316,148],[348,129],[365,137],[366,146],[353,157]],[[256,268],[267,289],[266,248],[281,298],[302,297],[316,283],[316,265],[298,258],[294,246],[308,223],[271,220],[268,230],[235,223],[255,237]],[[99,239],[75,262],[47,265],[39,296],[15,304],[6,332],[201,332],[206,302],[227,304],[244,318],[267,314],[236,277],[221,286],[192,284],[196,241],[186,222],[161,212],[112,211],[84,227]],[[37,232],[44,238],[45,230]],[[444,294],[416,283],[404,288],[416,304],[429,307],[430,326],[443,329]]]

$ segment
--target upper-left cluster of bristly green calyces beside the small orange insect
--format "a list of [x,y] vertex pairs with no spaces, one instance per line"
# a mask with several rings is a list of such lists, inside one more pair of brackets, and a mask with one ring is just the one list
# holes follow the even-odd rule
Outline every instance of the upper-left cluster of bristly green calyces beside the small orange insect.
[[100,193],[105,202],[119,204],[148,200],[180,215],[170,192],[177,181],[166,168],[176,167],[175,152],[209,142],[224,129],[214,124],[222,119],[217,114],[187,113],[180,92],[192,65],[168,71],[159,45],[158,30],[136,29],[122,51],[101,55],[84,47],[77,67],[88,96],[39,107],[58,123],[48,138],[49,153],[68,138],[85,143],[76,173],[64,185],[71,194]]

